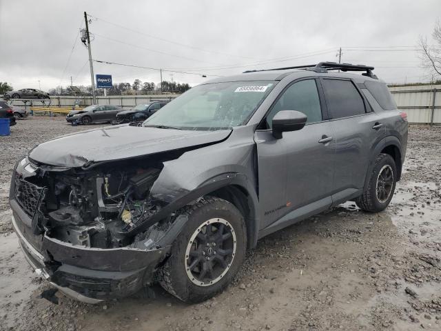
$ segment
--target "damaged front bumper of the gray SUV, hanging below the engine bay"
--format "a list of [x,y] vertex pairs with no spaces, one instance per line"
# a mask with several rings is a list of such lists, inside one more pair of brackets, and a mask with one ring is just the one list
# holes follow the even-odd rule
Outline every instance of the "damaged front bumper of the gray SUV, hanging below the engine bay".
[[[10,200],[12,225],[21,250],[37,274],[68,296],[85,303],[127,297],[154,281],[158,265],[170,247],[86,248],[32,233],[30,217]],[[27,219],[26,219],[27,218]]]

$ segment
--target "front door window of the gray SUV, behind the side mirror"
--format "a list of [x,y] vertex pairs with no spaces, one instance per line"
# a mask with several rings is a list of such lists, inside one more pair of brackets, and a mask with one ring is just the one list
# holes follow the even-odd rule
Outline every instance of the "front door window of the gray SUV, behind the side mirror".
[[267,127],[271,128],[272,119],[280,110],[297,110],[307,116],[307,123],[322,120],[322,108],[315,79],[298,81],[280,96],[267,116]]

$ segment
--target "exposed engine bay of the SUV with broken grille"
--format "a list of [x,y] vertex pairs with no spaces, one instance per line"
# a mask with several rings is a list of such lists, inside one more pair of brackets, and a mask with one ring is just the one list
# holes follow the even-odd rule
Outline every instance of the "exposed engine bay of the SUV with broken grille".
[[156,248],[176,219],[168,213],[152,222],[164,206],[150,197],[163,161],[149,157],[56,168],[23,159],[27,165],[23,173],[17,168],[15,196],[32,218],[34,234],[88,248]]

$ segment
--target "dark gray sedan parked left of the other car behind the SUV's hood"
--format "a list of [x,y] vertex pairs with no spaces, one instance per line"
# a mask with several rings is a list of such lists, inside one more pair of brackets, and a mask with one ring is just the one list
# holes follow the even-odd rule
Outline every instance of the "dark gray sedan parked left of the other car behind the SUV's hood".
[[112,105],[92,105],[83,110],[72,110],[66,117],[69,123],[84,124],[87,126],[91,123],[106,123],[114,121],[116,114],[121,112],[123,108]]

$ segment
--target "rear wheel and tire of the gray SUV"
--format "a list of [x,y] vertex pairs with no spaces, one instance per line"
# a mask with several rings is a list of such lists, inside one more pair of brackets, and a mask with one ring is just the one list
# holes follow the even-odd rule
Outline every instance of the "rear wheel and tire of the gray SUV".
[[378,155],[365,192],[356,204],[367,212],[381,212],[391,202],[397,180],[395,161],[389,154]]

